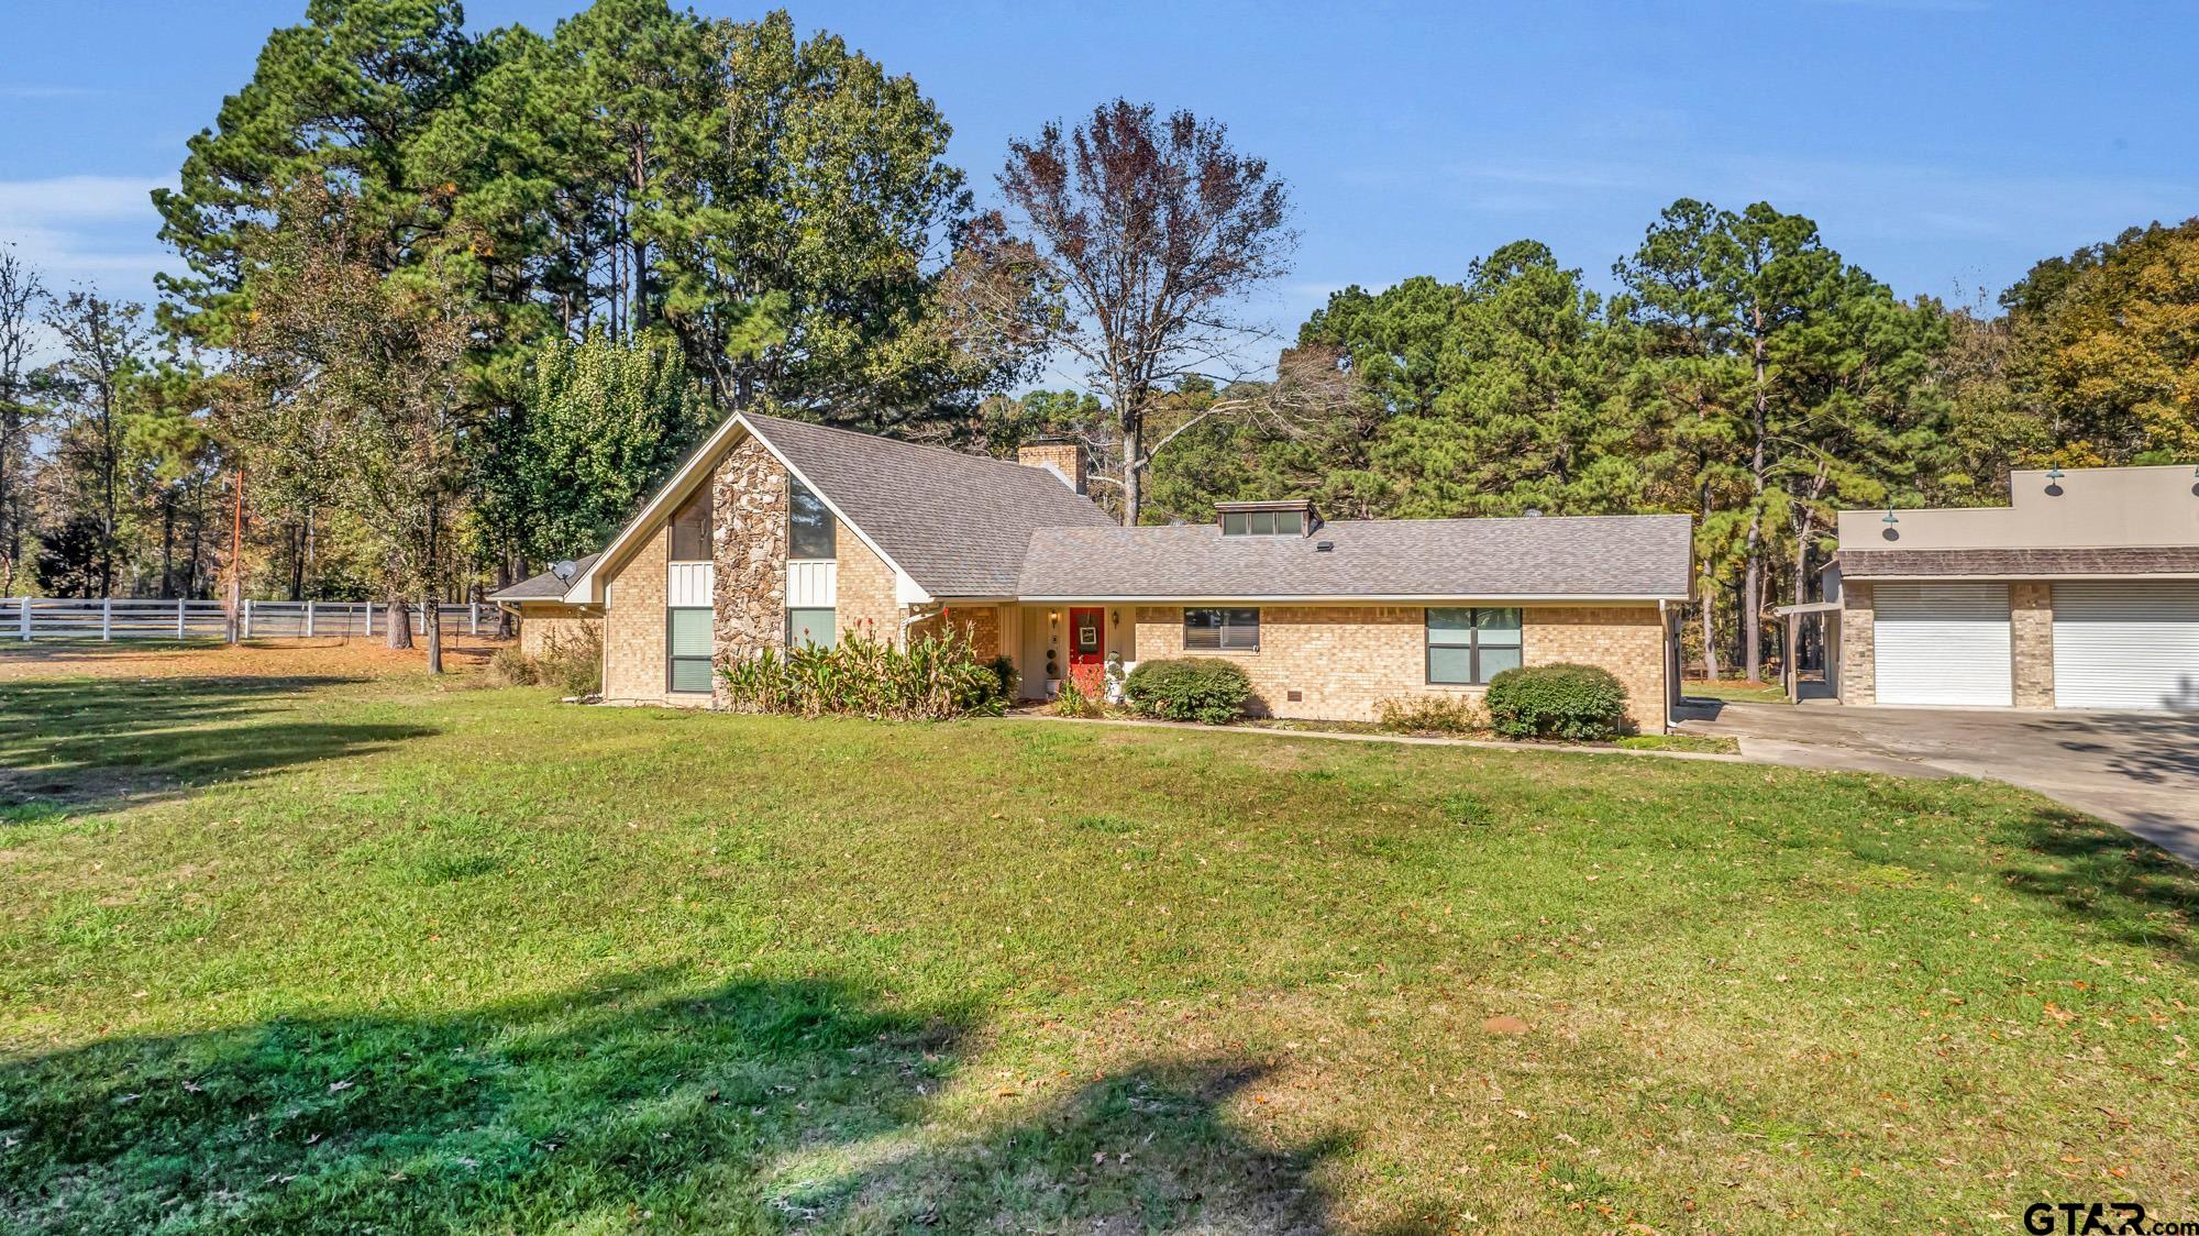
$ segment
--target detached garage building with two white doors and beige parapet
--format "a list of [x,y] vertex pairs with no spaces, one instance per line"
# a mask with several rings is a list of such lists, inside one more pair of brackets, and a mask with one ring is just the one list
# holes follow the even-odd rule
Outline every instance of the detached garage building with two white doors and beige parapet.
[[2199,710],[2199,471],[2010,484],[2005,508],[1841,512],[1838,697]]

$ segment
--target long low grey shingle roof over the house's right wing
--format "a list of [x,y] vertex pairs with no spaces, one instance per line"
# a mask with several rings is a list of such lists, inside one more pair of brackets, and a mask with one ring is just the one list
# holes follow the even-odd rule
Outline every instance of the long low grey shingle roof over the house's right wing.
[[1018,596],[1682,600],[1691,530],[1687,515],[1339,519],[1311,537],[1223,537],[1214,523],[1042,528]]

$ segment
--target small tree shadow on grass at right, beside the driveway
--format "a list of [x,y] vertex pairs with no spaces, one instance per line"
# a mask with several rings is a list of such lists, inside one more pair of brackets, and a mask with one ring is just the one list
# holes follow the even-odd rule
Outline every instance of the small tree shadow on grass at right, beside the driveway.
[[2065,807],[2038,807],[2014,823],[2016,845],[2049,860],[2005,864],[2012,889],[2078,915],[2126,943],[2186,965],[2199,922],[2199,871],[2153,842]]

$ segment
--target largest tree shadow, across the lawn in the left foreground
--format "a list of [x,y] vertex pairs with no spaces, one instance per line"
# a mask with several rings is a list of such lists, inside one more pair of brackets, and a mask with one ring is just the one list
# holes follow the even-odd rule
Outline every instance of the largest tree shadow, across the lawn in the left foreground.
[[825,981],[677,987],[642,972],[0,1064],[0,1227],[1328,1225],[1326,1148],[1271,1152],[1220,1111],[1253,1067],[1141,1067],[950,1135],[924,1122],[968,1020]]

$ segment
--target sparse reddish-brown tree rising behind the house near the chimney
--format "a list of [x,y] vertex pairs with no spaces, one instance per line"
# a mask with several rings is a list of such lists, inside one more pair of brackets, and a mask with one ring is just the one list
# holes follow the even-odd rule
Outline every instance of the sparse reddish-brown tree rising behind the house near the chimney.
[[1174,440],[1146,442],[1154,398],[1185,378],[1229,385],[1216,369],[1258,334],[1234,308],[1297,240],[1289,194],[1220,123],[1126,99],[1009,143],[1001,194],[1060,297],[1051,343],[1108,402],[1121,517],[1137,523],[1143,473]]

